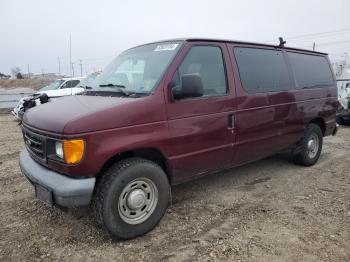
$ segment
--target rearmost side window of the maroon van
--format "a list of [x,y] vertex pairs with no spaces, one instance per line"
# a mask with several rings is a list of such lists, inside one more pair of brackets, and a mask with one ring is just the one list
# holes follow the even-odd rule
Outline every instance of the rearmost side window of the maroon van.
[[323,56],[288,52],[296,89],[333,85],[333,75]]

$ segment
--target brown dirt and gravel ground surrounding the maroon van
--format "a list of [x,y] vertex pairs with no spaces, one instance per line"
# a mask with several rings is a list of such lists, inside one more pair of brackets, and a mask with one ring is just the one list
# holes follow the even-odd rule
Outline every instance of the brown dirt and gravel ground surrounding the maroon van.
[[0,261],[350,261],[349,127],[313,167],[279,154],[174,187],[160,224],[129,241],[111,241],[89,208],[36,200],[23,147],[0,115]]

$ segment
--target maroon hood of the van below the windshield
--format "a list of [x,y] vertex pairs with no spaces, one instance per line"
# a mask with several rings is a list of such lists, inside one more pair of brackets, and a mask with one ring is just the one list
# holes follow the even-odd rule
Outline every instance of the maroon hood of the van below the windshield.
[[161,96],[68,96],[31,108],[23,123],[58,134],[79,134],[165,119]]

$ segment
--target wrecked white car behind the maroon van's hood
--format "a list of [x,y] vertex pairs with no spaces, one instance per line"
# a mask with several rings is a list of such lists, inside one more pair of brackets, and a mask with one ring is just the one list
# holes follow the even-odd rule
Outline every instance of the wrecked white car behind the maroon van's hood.
[[[19,100],[16,107],[12,110],[12,114],[16,119],[22,119],[24,112],[32,107],[47,103],[62,96],[76,95],[85,89],[82,85],[86,85],[89,81],[95,79],[96,74],[88,77],[70,77],[57,79],[48,86],[41,88],[33,95],[23,97]],[[84,83],[85,81],[85,83]]]

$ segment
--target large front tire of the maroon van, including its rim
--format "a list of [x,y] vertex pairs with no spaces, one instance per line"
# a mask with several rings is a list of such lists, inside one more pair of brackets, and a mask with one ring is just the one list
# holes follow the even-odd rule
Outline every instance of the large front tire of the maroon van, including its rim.
[[111,166],[95,193],[95,213],[113,239],[130,239],[153,229],[164,216],[170,199],[165,172],[142,158]]

